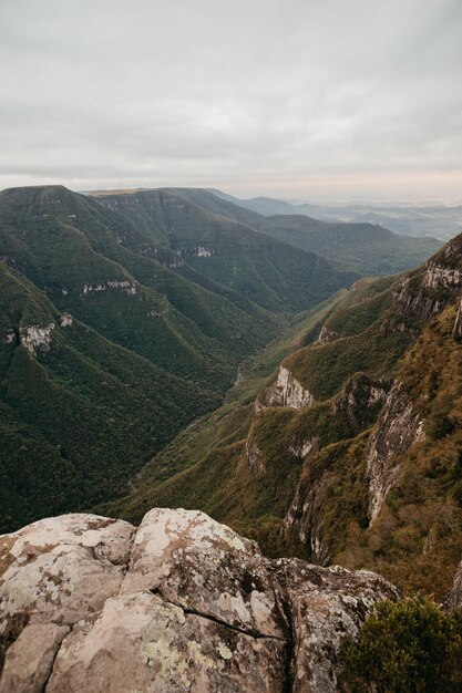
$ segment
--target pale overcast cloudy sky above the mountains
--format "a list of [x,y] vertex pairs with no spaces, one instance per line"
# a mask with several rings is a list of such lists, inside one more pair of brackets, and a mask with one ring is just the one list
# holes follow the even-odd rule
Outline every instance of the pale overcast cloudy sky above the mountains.
[[0,0],[0,188],[462,201],[462,0]]

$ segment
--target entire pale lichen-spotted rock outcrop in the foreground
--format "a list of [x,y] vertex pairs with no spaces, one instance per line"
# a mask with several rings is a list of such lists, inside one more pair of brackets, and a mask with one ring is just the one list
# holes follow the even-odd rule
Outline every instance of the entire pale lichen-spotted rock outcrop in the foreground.
[[0,692],[338,690],[341,638],[396,589],[265,559],[198,511],[94,515],[0,538]]

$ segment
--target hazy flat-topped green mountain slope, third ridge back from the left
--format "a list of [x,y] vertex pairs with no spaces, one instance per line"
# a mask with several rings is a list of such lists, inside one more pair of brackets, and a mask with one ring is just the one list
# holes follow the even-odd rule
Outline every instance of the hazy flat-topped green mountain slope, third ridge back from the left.
[[201,205],[211,206],[215,199],[220,205],[222,200],[207,192],[160,189],[129,196],[130,204],[125,195],[100,195],[97,199],[134,219],[138,216],[135,207],[148,209],[152,224],[182,259],[177,273],[205,287],[212,280],[263,309],[306,310],[357,278],[353,272],[332,269],[316,254],[300,251],[189,200],[201,198]]

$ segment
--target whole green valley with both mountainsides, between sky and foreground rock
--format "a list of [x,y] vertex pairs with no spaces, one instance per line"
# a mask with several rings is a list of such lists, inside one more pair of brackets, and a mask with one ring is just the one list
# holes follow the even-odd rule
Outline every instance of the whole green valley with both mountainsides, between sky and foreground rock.
[[459,239],[197,188],[14,188],[0,220],[3,531],[181,506],[270,556],[451,575]]

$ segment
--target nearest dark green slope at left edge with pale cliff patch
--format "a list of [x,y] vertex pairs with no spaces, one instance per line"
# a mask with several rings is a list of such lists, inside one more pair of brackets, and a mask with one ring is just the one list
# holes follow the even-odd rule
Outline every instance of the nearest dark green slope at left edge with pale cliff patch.
[[213,401],[59,312],[0,262],[0,532],[126,493]]

